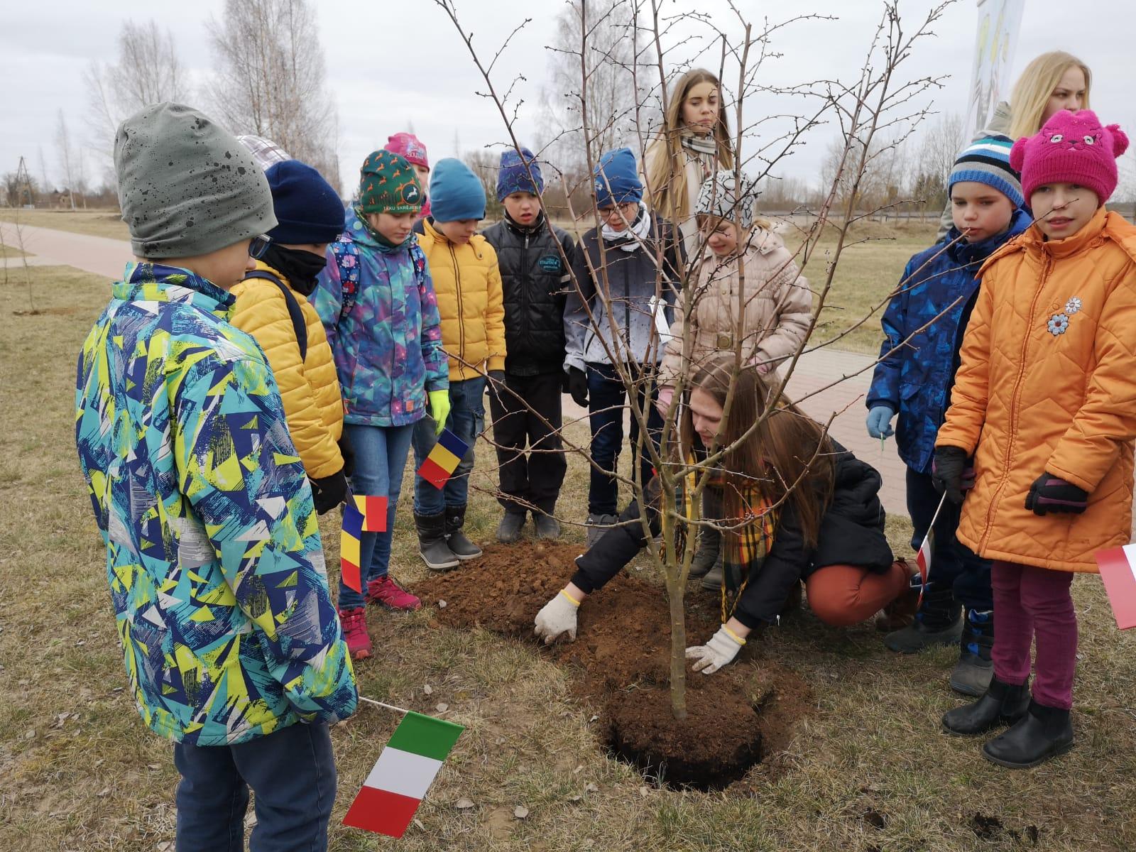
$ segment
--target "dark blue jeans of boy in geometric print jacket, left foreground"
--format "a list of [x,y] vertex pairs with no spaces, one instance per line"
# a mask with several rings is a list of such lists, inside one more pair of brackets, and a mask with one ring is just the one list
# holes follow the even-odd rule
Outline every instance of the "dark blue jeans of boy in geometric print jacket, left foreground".
[[324,852],[335,803],[327,726],[289,725],[240,745],[174,746],[177,852],[242,852],[249,788],[257,794],[251,852]]

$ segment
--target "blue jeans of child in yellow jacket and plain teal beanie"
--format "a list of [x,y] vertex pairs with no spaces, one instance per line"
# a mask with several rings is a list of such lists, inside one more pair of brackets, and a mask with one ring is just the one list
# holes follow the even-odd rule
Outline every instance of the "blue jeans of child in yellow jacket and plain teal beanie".
[[[474,442],[485,431],[485,377],[467,378],[450,383],[450,432],[469,444],[469,451],[458,463],[445,486],[438,491],[415,474],[415,513],[441,515],[445,507],[465,506],[469,500],[469,475],[474,471]],[[415,424],[415,469],[421,467],[429,451],[437,443],[434,418],[427,415]]]

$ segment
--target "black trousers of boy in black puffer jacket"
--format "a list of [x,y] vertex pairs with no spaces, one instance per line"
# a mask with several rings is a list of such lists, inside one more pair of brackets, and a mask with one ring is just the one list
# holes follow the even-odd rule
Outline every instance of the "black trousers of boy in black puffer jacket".
[[[552,515],[568,469],[560,441],[562,376],[507,374],[504,381],[508,390],[490,391],[493,443],[501,476],[502,493],[498,500],[506,511],[523,515],[532,504]],[[526,408],[526,402],[536,414]]]

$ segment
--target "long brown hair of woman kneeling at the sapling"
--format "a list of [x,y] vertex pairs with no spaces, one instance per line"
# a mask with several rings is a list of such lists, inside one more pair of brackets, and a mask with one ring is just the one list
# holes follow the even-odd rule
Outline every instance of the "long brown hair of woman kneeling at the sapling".
[[[793,509],[805,544],[816,546],[820,521],[833,498],[833,442],[819,423],[787,399],[775,399],[776,386],[757,369],[735,370],[735,365],[733,356],[717,356],[699,369],[691,385],[722,409],[727,396],[732,400],[729,416],[718,432],[718,446],[737,444],[724,454],[720,465],[727,517],[744,516],[745,495],[757,491],[770,503],[784,500],[782,511]],[[761,420],[767,409],[769,414]],[[686,434],[692,434],[690,428]]]

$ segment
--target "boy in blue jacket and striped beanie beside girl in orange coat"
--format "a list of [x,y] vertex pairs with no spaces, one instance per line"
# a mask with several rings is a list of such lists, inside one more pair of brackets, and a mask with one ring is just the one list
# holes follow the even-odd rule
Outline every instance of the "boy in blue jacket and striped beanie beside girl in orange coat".
[[[908,466],[908,511],[918,548],[939,504],[932,484],[935,435],[951,400],[959,346],[978,294],[978,270],[1003,243],[1030,224],[1022,209],[1021,183],[1010,168],[1012,142],[987,136],[955,160],[947,183],[954,227],[937,243],[908,261],[903,278],[884,312],[884,344],[868,392],[868,434],[893,434]],[[884,643],[901,653],[934,644],[960,644],[951,686],[982,695],[992,675],[994,608],[989,562],[955,541],[959,508],[943,506],[934,527],[930,582],[914,620],[893,629]]]

